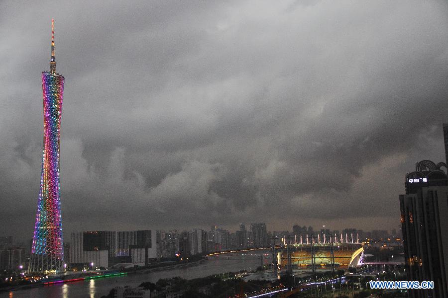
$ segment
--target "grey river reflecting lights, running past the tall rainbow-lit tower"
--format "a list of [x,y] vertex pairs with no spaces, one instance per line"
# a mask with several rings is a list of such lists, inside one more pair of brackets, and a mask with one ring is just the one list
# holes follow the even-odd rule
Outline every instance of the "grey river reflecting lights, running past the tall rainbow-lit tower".
[[232,253],[228,255],[228,259],[227,255],[223,254],[181,268],[170,266],[170,268],[158,268],[157,271],[147,273],[1,292],[0,298],[100,298],[118,286],[138,286],[142,282],[155,283],[161,278],[179,276],[184,279],[194,279],[225,272],[237,272],[238,270],[254,270],[261,265],[260,254],[263,255],[263,264],[272,262],[272,255],[267,250],[247,254]]

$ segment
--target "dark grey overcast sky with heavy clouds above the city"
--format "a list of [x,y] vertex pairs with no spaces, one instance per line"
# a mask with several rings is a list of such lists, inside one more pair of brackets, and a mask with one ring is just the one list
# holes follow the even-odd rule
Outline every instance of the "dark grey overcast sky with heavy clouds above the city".
[[31,238],[55,19],[72,230],[399,228],[445,161],[446,1],[1,1],[0,235]]

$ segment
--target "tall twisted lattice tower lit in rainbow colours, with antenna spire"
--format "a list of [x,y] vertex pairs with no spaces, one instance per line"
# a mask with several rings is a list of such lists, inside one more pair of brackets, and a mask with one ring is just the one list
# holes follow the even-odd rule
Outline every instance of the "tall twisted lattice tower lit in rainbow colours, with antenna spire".
[[56,73],[54,19],[51,20],[51,33],[50,71],[42,72],[44,114],[42,174],[29,272],[64,270],[59,183],[59,137],[64,77]]

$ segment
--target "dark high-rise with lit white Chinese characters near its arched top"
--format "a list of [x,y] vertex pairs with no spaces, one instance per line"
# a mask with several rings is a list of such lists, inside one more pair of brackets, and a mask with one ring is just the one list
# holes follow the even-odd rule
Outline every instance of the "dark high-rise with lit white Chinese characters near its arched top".
[[408,281],[434,281],[433,290],[410,290],[411,297],[447,297],[448,176],[445,163],[423,160],[406,174],[400,195]]

